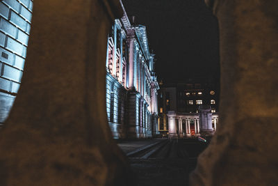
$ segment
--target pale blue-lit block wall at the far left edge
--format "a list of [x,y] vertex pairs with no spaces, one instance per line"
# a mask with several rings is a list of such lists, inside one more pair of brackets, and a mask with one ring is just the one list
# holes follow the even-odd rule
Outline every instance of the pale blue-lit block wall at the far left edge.
[[6,120],[22,79],[33,0],[0,2],[0,125]]

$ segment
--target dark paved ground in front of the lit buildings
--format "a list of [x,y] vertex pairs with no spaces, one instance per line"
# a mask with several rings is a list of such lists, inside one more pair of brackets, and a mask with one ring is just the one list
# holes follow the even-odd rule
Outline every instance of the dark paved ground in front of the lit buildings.
[[197,139],[119,142],[129,157],[138,186],[188,185],[188,175],[195,169],[197,156],[207,145]]

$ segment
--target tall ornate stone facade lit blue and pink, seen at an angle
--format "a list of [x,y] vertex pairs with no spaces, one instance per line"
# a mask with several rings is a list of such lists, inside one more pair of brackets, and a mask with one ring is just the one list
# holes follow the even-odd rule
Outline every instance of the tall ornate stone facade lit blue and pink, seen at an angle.
[[106,110],[113,136],[158,134],[154,54],[149,52],[146,27],[131,24],[125,10],[108,36],[106,71]]

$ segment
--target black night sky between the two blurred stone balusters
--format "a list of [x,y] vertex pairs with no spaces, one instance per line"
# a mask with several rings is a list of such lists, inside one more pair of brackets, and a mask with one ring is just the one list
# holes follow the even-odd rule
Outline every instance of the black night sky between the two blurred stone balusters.
[[158,79],[219,79],[218,22],[204,0],[122,1],[129,20],[147,26]]

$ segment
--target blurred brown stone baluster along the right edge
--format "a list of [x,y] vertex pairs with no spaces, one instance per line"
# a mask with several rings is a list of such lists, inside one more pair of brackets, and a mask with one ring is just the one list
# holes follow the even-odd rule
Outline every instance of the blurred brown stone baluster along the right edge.
[[191,185],[278,185],[278,1],[216,0],[220,123]]

